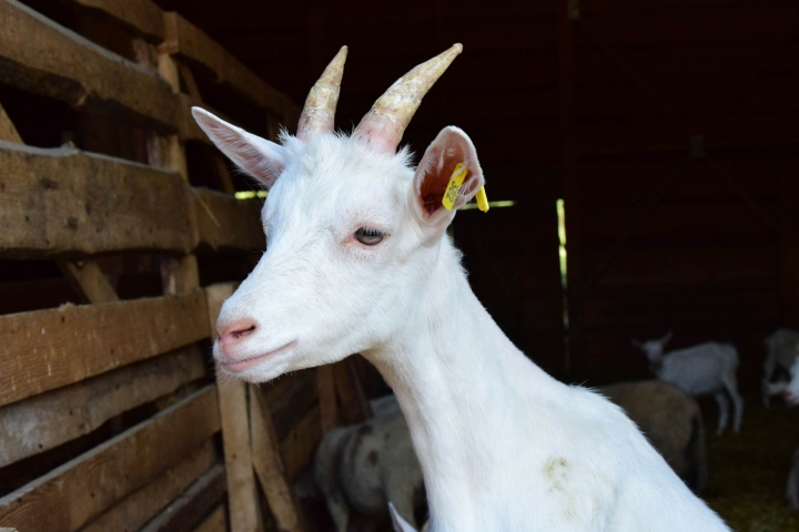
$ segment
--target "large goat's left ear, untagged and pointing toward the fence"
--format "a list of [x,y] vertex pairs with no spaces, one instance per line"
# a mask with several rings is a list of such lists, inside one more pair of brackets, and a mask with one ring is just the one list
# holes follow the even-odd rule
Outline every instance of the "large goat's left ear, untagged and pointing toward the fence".
[[209,139],[231,161],[271,188],[286,165],[286,150],[280,144],[247,133],[200,108],[192,115]]

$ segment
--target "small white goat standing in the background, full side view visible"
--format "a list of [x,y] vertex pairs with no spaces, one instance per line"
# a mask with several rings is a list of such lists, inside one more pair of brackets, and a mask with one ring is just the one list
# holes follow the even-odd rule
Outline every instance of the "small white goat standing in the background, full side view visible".
[[735,409],[732,429],[739,432],[744,416],[744,398],[738,392],[736,379],[738,351],[735,347],[708,341],[664,354],[669,340],[671,332],[657,340],[645,342],[633,340],[633,345],[646,354],[649,368],[658,379],[675,383],[691,396],[712,393],[719,406],[718,434],[725,431],[729,419],[729,402],[725,395],[727,390],[732,398]]

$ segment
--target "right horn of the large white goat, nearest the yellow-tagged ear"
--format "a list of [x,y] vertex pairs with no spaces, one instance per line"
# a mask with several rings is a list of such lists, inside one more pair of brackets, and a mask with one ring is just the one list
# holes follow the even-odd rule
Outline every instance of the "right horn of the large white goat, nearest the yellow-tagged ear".
[[361,120],[354,136],[378,152],[395,153],[422,99],[462,51],[462,44],[453,44],[395,81]]

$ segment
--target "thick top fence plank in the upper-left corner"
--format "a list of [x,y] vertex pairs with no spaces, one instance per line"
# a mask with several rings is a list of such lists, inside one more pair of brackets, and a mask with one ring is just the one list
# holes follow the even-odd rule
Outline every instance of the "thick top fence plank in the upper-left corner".
[[3,83],[75,109],[175,130],[175,96],[159,75],[16,0],[0,1],[0,63]]

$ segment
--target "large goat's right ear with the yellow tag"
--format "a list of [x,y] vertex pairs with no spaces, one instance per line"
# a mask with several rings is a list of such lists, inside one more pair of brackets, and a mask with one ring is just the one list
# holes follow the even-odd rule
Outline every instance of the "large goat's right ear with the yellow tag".
[[[468,173],[453,202],[453,209],[447,211],[442,200],[458,163],[463,164]],[[414,203],[418,206],[422,219],[446,228],[455,215],[455,209],[472,200],[484,183],[483,170],[472,140],[463,130],[451,125],[444,127],[435,141],[427,146],[424,157],[416,167],[413,185]]]

